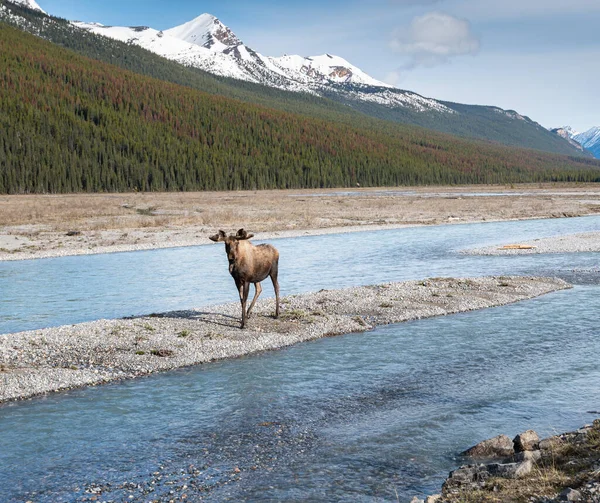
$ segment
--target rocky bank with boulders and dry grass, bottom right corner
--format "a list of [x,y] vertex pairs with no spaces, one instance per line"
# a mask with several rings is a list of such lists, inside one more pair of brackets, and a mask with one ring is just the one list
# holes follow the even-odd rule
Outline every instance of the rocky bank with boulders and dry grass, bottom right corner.
[[473,464],[450,472],[441,494],[412,503],[600,502],[600,419],[544,439],[534,430],[498,435],[461,455]]

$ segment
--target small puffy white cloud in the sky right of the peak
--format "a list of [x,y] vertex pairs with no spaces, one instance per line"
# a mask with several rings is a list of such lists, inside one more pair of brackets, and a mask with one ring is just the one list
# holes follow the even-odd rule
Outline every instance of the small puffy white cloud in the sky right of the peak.
[[410,57],[407,69],[437,66],[455,56],[476,54],[480,41],[466,19],[429,12],[396,29],[390,45],[395,52]]

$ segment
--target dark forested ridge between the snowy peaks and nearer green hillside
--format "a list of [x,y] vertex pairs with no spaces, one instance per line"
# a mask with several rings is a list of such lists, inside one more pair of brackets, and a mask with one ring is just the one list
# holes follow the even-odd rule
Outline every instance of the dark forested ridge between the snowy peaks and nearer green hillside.
[[[329,121],[355,124],[374,130],[394,131],[396,124],[411,124],[467,138],[495,141],[511,146],[533,148],[565,155],[585,156],[562,138],[518,114],[504,113],[496,107],[441,102],[455,113],[417,111],[410,107],[386,105],[354,99],[352,85],[338,86],[322,94],[293,93],[217,77],[195,68],[184,67],[134,44],[125,44],[76,28],[64,19],[0,0],[0,19],[79,54],[112,63],[150,77],[195,89],[240,99]],[[380,88],[373,88],[374,93]],[[368,92],[361,88],[361,92]],[[404,91],[394,90],[401,95]],[[377,120],[381,119],[381,120]]]

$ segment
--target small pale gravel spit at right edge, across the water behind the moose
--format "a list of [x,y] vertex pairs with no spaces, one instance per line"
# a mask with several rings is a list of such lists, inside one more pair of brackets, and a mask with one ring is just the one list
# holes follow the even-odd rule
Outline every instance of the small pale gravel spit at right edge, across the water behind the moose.
[[463,250],[466,255],[531,255],[600,252],[600,232],[583,232]]

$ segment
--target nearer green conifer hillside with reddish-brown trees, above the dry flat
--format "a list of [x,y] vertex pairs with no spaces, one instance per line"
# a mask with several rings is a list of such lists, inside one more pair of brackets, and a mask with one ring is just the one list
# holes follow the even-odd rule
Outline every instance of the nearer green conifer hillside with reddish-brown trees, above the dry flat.
[[600,162],[217,97],[0,27],[0,193],[600,181]]

